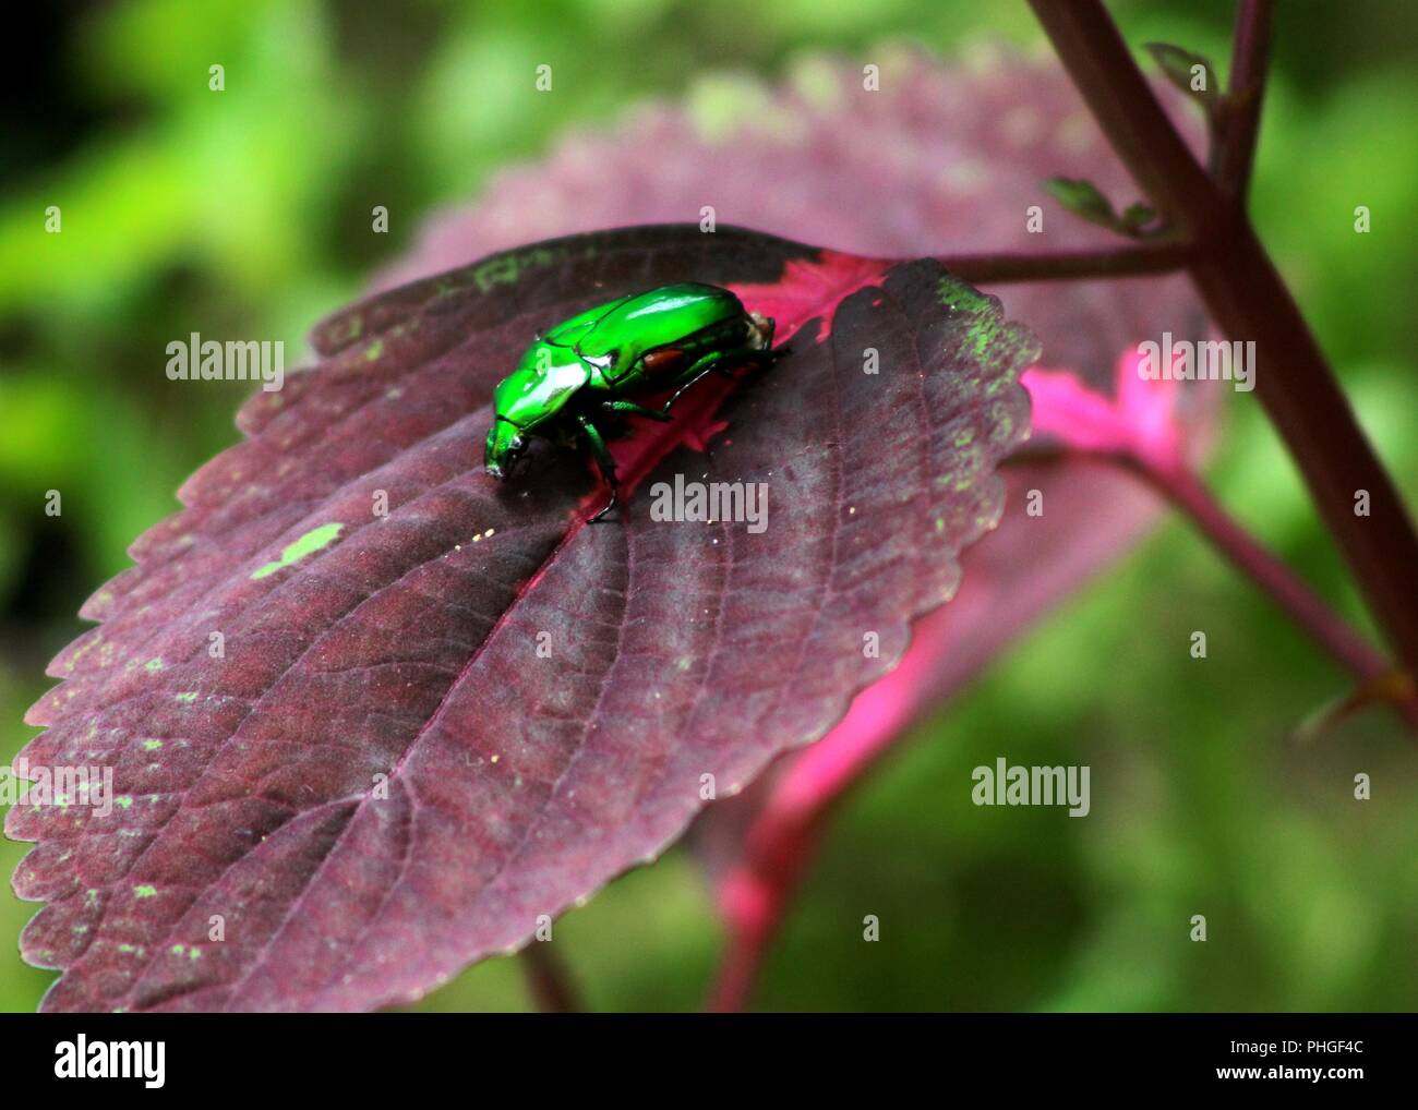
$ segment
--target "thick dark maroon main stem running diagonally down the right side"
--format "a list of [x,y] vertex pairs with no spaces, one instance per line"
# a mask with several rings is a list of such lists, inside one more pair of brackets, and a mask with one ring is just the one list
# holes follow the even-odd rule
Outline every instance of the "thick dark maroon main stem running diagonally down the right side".
[[[1418,673],[1418,537],[1241,200],[1197,164],[1099,0],[1029,3],[1133,177],[1195,244],[1190,271],[1211,318],[1229,339],[1255,342],[1256,396],[1375,622]],[[1361,490],[1368,516],[1354,512]]]

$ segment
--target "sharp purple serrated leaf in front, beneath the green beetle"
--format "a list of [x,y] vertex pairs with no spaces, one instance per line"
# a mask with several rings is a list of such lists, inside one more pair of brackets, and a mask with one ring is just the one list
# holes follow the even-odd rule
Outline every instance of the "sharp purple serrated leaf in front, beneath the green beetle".
[[[491,388],[537,329],[685,279],[774,315],[791,354],[617,441],[623,522],[586,526],[574,452],[484,473]],[[50,903],[21,940],[65,971],[48,1009],[411,999],[655,858],[705,775],[732,794],[822,736],[951,595],[1037,353],[934,262],[669,227],[519,248],[315,344],[31,710],[31,767],[112,767],[118,795],[7,817],[38,841],[14,886]],[[675,475],[767,483],[766,532],[652,522]]]

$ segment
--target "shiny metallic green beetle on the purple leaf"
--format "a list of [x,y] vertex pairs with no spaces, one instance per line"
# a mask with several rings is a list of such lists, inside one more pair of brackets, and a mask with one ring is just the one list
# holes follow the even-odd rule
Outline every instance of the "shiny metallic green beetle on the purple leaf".
[[[506,478],[530,435],[586,441],[617,502],[615,462],[601,424],[625,415],[671,420],[669,410],[712,371],[773,361],[773,320],[747,312],[718,285],[661,285],[588,309],[527,347],[493,391],[484,465]],[[635,398],[674,391],[661,408]]]

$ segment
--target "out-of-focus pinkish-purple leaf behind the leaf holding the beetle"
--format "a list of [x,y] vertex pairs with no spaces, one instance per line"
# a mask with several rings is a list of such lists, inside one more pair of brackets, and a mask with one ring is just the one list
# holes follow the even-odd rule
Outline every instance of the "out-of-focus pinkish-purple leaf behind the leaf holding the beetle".
[[[1193,149],[1204,153],[1187,98],[1166,79],[1154,88]],[[607,164],[617,167],[614,189],[598,187],[588,172]],[[703,204],[720,220],[873,257],[1116,245],[1112,230],[1073,218],[1046,194],[1042,181],[1051,176],[1088,179],[1105,196],[1136,194],[1052,60],[986,50],[946,67],[917,51],[891,52],[882,58],[881,89],[866,92],[859,62],[807,58],[774,85],[720,78],[689,108],[648,106],[614,132],[567,136],[536,164],[499,174],[476,204],[428,221],[413,255],[384,281],[430,274],[529,231],[682,220],[698,217]],[[1044,214],[1041,234],[1029,231],[1035,204]],[[1133,230],[1147,223],[1136,207],[1124,218]],[[1156,495],[1119,468],[1034,455],[1075,445],[1085,430],[1078,417],[1089,415],[1089,407],[1052,403],[1115,398],[1123,380],[1119,361],[1139,340],[1163,330],[1205,335],[1187,279],[1037,282],[994,292],[1012,318],[1029,322],[1056,374],[1037,379],[1056,386],[1049,404],[1035,398],[1037,413],[1051,420],[1042,427],[1035,421],[1035,438],[1010,459],[1000,527],[964,553],[960,594],[916,624],[902,665],[864,692],[821,743],[780,760],[773,775],[709,808],[696,824],[696,846],[725,878],[720,895],[732,930],[756,927],[766,902],[786,893],[773,870],[781,849],[795,843],[794,822],[811,824],[912,723],[1157,519]],[[1062,387],[1065,374],[1072,390]],[[1215,390],[1200,387],[1171,398],[1191,455],[1207,438],[1215,398]],[[1042,516],[1025,512],[1031,490],[1042,496]],[[763,834],[750,838],[757,848],[743,838],[750,825]]]

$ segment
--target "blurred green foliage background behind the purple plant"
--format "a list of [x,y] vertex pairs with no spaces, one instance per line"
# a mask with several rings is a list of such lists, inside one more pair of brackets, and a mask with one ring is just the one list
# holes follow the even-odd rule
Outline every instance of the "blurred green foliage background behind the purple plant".
[[[1227,0],[1113,10],[1133,44],[1228,54]],[[79,602],[235,437],[247,387],[174,388],[160,354],[172,337],[303,350],[318,316],[408,247],[406,214],[474,200],[566,128],[614,123],[716,72],[773,77],[805,51],[900,38],[947,58],[981,35],[1039,48],[1012,0],[136,0],[34,17],[48,24],[24,40],[37,75],[7,67],[0,109],[0,763],[34,731],[20,717],[50,685],[44,665],[86,627]],[[1418,6],[1293,0],[1278,35],[1256,218],[1412,503]],[[583,92],[523,95],[547,58]],[[240,69],[240,96],[208,94],[214,60],[228,82]],[[396,214],[389,235],[369,234],[370,194]],[[1370,235],[1351,227],[1361,203]],[[43,234],[48,204],[65,234]],[[1254,401],[1232,400],[1210,476],[1364,621]],[[50,489],[60,517],[43,512]],[[1185,655],[1193,628],[1214,629],[1205,662]],[[1307,747],[1288,739],[1343,685],[1184,523],[1166,523],[852,795],[759,1004],[1412,1008],[1418,753],[1380,710]],[[1090,764],[1090,819],[942,802],[1005,750]],[[1353,800],[1357,770],[1373,801]],[[24,849],[0,842],[6,876]],[[0,1009],[33,1009],[51,978],[16,954],[34,909],[4,885]],[[862,944],[864,913],[881,917],[881,943]],[[1205,944],[1187,940],[1194,913]],[[722,941],[682,849],[557,930],[588,1005],[607,1009],[696,1007]],[[492,960],[423,1008],[527,1005],[515,963]]]

